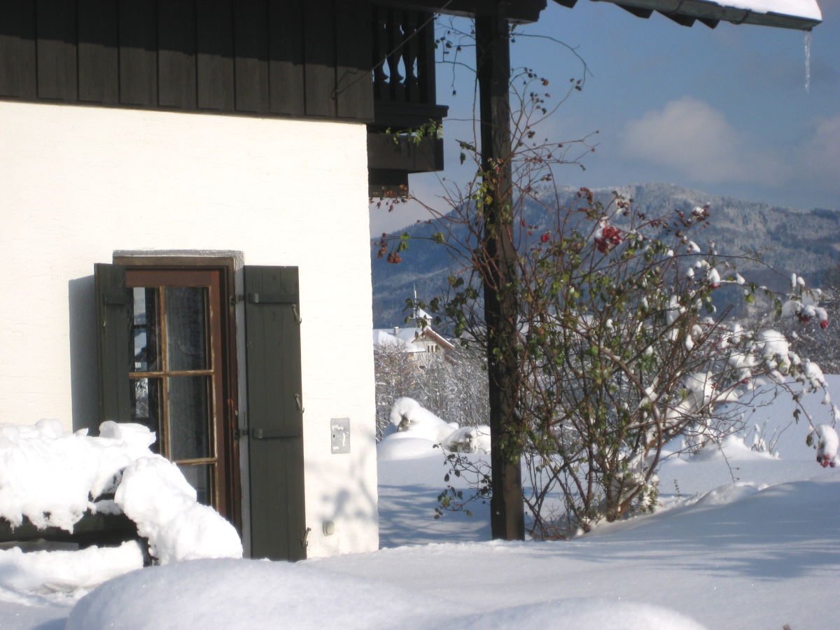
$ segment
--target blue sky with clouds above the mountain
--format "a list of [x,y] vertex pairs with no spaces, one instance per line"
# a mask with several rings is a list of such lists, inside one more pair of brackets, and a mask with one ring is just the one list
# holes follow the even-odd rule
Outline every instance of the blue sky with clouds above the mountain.
[[[522,33],[560,39],[591,74],[543,130],[556,141],[598,132],[586,170],[570,165],[559,179],[570,186],[670,181],[751,201],[840,209],[840,0],[817,1],[823,24],[811,35],[806,92],[801,31],[724,22],[685,28],[612,3],[579,0],[570,9],[549,0],[538,24]],[[462,55],[474,63],[472,50]],[[582,76],[574,54],[539,38],[518,37],[512,65],[547,76],[555,97]],[[452,96],[453,74],[438,64],[438,102],[452,118],[470,118],[471,82],[457,72]],[[457,167],[455,139],[469,136],[464,123],[444,121],[444,176],[468,175]],[[412,176],[410,185],[420,197],[438,194],[437,176]],[[419,216],[406,207],[391,215],[373,210],[371,233]]]

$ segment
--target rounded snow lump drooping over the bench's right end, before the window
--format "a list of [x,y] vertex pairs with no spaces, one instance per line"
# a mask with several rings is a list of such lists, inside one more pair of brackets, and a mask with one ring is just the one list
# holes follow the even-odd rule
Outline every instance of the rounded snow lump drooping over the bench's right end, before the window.
[[160,455],[140,458],[123,471],[114,501],[149,538],[160,564],[199,558],[241,558],[234,526],[212,507],[196,502],[196,491],[178,467]]

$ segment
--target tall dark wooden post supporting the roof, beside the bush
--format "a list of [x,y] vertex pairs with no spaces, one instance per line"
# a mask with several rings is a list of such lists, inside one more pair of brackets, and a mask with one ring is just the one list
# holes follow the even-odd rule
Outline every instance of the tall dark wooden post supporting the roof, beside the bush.
[[486,265],[485,321],[490,377],[491,531],[493,538],[522,540],[522,470],[517,440],[517,301],[509,287],[516,281],[513,247],[510,46],[507,19],[475,18],[475,55],[480,94],[481,168],[490,189],[484,206],[483,245]]

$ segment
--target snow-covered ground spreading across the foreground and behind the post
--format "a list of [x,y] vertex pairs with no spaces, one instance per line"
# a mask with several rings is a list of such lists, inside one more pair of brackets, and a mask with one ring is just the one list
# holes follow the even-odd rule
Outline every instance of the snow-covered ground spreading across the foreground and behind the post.
[[[840,377],[828,380],[840,400]],[[811,407],[826,417],[819,396]],[[769,437],[788,424],[789,403],[754,416]],[[380,463],[376,553],[174,562],[81,597],[85,588],[61,588],[3,552],[0,627],[837,627],[840,468],[817,465],[805,435],[787,428],[778,458],[731,440],[723,452],[668,461],[654,515],[526,543],[486,542],[486,506],[435,520],[443,456],[406,439],[409,459],[391,447]]]

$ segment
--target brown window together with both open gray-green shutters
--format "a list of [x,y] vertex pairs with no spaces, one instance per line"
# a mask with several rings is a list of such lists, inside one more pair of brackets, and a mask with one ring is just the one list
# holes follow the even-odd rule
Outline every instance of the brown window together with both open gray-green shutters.
[[[95,266],[100,422],[155,431],[153,448],[176,462],[199,500],[240,532],[245,524],[252,556],[305,558],[297,268],[245,266],[240,298],[232,259],[115,262]],[[238,326],[246,346],[241,386]],[[247,408],[239,409],[242,390]]]

